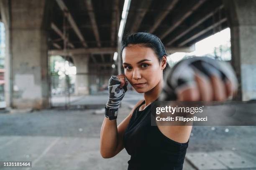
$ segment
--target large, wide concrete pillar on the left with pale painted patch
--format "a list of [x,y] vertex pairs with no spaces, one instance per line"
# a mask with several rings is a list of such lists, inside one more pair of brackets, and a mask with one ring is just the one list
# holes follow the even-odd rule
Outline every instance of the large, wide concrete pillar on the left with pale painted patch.
[[[46,1],[3,0],[7,38],[6,96],[14,108],[49,106]],[[48,18],[49,19],[49,18]],[[10,91],[8,91],[10,89]]]

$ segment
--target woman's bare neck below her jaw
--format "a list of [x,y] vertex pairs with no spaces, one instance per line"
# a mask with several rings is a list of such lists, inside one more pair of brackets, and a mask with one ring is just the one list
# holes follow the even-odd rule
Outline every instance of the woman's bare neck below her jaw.
[[161,79],[154,88],[144,93],[145,107],[159,97],[163,85],[164,85],[164,80]]

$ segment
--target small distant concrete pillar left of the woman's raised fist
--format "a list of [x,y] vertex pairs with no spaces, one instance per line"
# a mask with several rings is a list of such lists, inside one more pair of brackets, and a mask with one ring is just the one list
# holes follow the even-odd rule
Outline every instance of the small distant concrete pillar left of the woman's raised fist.
[[77,68],[75,95],[88,95],[90,92],[89,84],[89,54],[74,55],[74,66]]

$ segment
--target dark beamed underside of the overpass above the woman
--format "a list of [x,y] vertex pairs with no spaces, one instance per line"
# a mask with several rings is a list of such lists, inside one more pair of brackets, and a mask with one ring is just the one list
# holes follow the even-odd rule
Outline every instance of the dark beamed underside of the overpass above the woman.
[[[55,0],[51,49],[116,47],[124,0]],[[68,19],[64,21],[64,12]],[[146,31],[167,47],[185,47],[227,28],[222,0],[131,0],[124,35]]]

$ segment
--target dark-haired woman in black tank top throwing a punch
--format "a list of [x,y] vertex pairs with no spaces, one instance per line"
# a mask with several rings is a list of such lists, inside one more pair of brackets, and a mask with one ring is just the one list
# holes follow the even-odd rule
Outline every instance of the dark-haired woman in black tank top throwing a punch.
[[[131,155],[128,170],[182,170],[192,126],[151,126],[151,104],[159,96],[161,100],[222,101],[236,91],[235,81],[229,80],[233,76],[230,69],[198,57],[179,62],[164,86],[166,56],[161,40],[146,32],[129,35],[122,42],[124,75],[112,76],[109,81],[100,153],[103,158],[112,158],[125,148]],[[117,127],[118,108],[128,84],[125,77],[143,93],[144,100]]]

